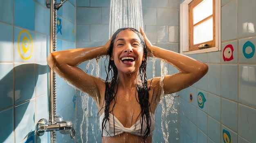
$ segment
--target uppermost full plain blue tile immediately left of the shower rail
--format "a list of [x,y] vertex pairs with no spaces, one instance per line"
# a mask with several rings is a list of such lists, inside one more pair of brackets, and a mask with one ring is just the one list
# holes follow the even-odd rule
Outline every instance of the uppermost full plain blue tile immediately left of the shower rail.
[[35,3],[35,15],[35,31],[45,35],[49,34],[49,9],[41,4]]

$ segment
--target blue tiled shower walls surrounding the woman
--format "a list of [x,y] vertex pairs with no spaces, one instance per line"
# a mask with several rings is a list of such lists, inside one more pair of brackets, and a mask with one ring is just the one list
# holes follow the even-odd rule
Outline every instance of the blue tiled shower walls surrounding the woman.
[[[179,52],[179,4],[183,1],[142,0],[144,31],[154,45]],[[63,4],[57,11],[57,17],[61,20],[57,50],[104,44],[108,40],[109,5],[110,0],[68,0]],[[169,142],[224,143],[223,134],[231,134],[232,141],[238,143],[256,140],[253,134],[256,132],[255,5],[254,0],[221,0],[222,50],[189,55],[207,63],[209,72],[191,87],[177,93],[180,94],[179,98],[175,98],[176,104],[179,103],[179,124],[170,124]],[[5,132],[0,131],[0,142],[25,142],[29,137],[36,138],[36,142],[48,142],[49,134],[41,137],[36,135],[35,124],[48,116],[49,68],[46,57],[49,53],[49,9],[43,0],[1,0],[0,13],[4,13],[0,15],[0,83],[4,85],[0,87],[0,116],[4,117],[0,123],[7,123],[1,124]],[[228,53],[233,57],[230,61],[227,61],[227,57],[223,58],[227,56],[224,55],[227,45],[233,47],[231,54]],[[105,59],[101,58],[101,68],[104,68],[104,62]],[[86,65],[80,66],[85,69]],[[160,61],[152,63],[152,58],[149,58],[148,78],[152,78],[153,73],[159,76],[159,68]],[[177,72],[174,67],[168,66],[169,74]],[[95,72],[93,75],[96,75]],[[106,78],[102,69],[100,77]],[[81,141],[81,115],[78,116],[81,113],[80,93],[61,78],[57,77],[57,81],[58,102],[65,103],[58,104],[58,114],[74,122],[77,141]],[[206,97],[204,108],[198,106],[199,92]],[[190,94],[193,95],[192,101]],[[74,96],[76,102],[73,101]],[[93,125],[93,130],[88,130],[88,134],[93,138],[88,138],[88,142],[100,142],[96,105],[92,99],[89,104],[92,107],[90,125]],[[162,108],[158,107],[157,117],[161,111]],[[169,119],[175,118],[175,114],[173,116]],[[162,132],[160,120],[156,121],[153,136],[156,143],[164,142],[162,133],[158,133]],[[63,134],[57,134],[57,139],[72,141]],[[85,135],[83,141],[86,141]]]

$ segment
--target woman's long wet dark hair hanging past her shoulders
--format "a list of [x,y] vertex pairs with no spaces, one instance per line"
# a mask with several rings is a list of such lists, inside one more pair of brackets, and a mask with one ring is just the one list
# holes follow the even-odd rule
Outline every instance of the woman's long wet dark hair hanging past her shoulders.
[[[147,86],[147,76],[146,76],[146,65],[147,65],[147,50],[146,50],[146,44],[144,37],[141,35],[141,33],[134,29],[134,28],[120,28],[118,29],[113,35],[110,43],[110,49],[108,51],[108,56],[111,57],[113,48],[114,48],[114,41],[122,30],[132,30],[135,32],[141,41],[141,46],[143,48],[144,54],[145,54],[145,59],[144,61],[141,62],[141,66],[139,67],[139,77],[141,83],[137,84],[137,92],[138,92],[138,99],[137,102],[139,102],[140,107],[141,107],[141,135],[143,135],[143,138],[146,139],[148,135],[150,134],[150,126],[151,126],[151,121],[150,121],[150,103],[149,103],[149,93],[148,93],[148,86]],[[117,89],[118,89],[118,82],[119,82],[119,77],[118,77],[118,71],[117,67],[115,66],[114,61],[110,60],[109,57],[109,65],[108,69],[106,69],[107,72],[107,77],[106,77],[106,90],[105,90],[105,117],[103,118],[102,121],[102,129],[106,127],[106,121],[109,121],[109,113],[113,113],[113,108],[115,107],[116,104],[116,94],[117,94]],[[114,100],[114,105],[112,109],[110,109],[110,102]],[[103,108],[103,107],[102,107]],[[139,116],[138,116],[139,117]],[[137,119],[138,119],[137,117]],[[137,120],[136,120],[137,121]],[[142,132],[142,127],[143,123],[146,121],[146,131],[143,133]],[[115,132],[115,121],[114,121],[114,132]]]

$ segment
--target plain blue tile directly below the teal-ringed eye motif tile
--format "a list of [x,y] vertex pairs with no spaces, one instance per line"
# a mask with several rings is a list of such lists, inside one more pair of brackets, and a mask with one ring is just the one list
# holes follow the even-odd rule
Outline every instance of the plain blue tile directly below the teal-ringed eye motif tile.
[[[198,108],[198,123],[197,126],[204,134],[207,134],[207,114]],[[203,143],[203,142],[200,142]]]

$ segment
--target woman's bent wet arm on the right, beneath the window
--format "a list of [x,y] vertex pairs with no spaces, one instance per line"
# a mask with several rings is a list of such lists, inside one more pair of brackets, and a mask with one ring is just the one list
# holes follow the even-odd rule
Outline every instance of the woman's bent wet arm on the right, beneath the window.
[[207,73],[208,65],[183,54],[154,46],[147,39],[142,29],[141,34],[145,39],[146,48],[149,52],[149,55],[164,60],[180,71],[177,74],[166,75],[164,77],[164,93],[170,94],[185,89],[200,80],[200,78],[202,78]]

